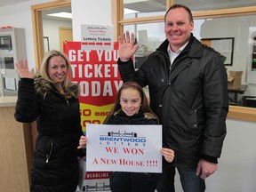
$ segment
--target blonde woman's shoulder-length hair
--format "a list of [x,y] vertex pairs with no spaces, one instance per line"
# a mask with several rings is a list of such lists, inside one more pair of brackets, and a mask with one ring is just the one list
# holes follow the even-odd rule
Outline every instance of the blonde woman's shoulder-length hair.
[[[55,56],[60,56],[62,57],[67,65],[67,76],[65,76],[63,83],[62,83],[62,89],[64,92],[68,93],[68,95],[71,93],[72,95],[76,96],[78,95],[78,91],[73,89],[70,89],[70,87],[77,85],[71,82],[71,76],[72,76],[72,68],[71,68],[71,64],[70,61],[68,60],[68,57],[60,51],[57,50],[52,50],[50,52],[47,52],[44,55],[44,59],[42,60],[42,64],[41,64],[41,68],[40,68],[40,75],[48,82],[51,82],[52,84],[54,84],[54,82],[52,81],[52,79],[50,78],[49,74],[48,74],[48,66],[49,66],[49,62],[52,59],[52,57]],[[78,87],[77,87],[78,89]]]

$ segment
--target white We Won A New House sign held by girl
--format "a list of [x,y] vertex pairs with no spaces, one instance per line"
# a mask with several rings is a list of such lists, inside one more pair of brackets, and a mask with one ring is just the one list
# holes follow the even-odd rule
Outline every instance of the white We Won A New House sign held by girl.
[[88,172],[162,172],[162,125],[86,124]]

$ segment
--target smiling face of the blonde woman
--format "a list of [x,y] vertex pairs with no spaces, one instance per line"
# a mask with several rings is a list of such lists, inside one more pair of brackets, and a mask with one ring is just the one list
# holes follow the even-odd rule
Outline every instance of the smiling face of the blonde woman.
[[54,83],[60,83],[64,81],[67,76],[68,68],[66,60],[61,56],[54,56],[49,60],[48,75]]

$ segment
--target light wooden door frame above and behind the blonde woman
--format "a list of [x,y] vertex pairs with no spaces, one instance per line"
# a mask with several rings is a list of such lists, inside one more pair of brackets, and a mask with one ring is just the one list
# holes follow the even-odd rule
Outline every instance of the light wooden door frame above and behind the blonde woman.
[[55,9],[59,7],[71,6],[71,0],[53,1],[44,4],[35,4],[31,6],[32,13],[32,28],[34,35],[36,69],[40,68],[41,61],[44,58],[44,36],[43,36],[43,21],[42,11]]

